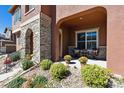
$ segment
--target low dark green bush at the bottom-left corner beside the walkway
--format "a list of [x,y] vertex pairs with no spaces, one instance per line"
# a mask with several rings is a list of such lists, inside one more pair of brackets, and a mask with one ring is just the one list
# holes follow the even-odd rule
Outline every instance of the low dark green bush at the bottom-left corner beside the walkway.
[[20,88],[26,79],[22,77],[17,77],[7,85],[8,88]]

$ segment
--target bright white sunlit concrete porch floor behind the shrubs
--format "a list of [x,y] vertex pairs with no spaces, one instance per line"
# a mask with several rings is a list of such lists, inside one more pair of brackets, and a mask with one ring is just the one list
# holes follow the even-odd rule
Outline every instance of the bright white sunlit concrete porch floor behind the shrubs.
[[[61,63],[65,64],[65,61],[62,61]],[[101,60],[91,60],[88,59],[87,64],[96,64],[99,65],[101,67],[106,68],[107,67],[107,62],[106,61],[101,61]],[[71,63],[69,64],[70,67],[77,67],[77,68],[81,68],[80,62],[78,60],[72,60]]]

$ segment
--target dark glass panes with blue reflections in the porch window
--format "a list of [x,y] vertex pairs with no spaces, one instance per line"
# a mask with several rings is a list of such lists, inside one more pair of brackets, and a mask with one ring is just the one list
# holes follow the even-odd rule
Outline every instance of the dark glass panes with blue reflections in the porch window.
[[77,48],[96,49],[98,46],[97,31],[77,32]]

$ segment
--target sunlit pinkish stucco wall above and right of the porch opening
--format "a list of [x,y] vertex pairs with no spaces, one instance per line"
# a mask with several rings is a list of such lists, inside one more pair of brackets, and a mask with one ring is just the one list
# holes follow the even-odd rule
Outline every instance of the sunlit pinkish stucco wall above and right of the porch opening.
[[[57,6],[56,23],[64,17],[96,6]],[[124,6],[103,6],[107,10],[107,67],[124,75]],[[56,41],[57,42],[57,41]]]

